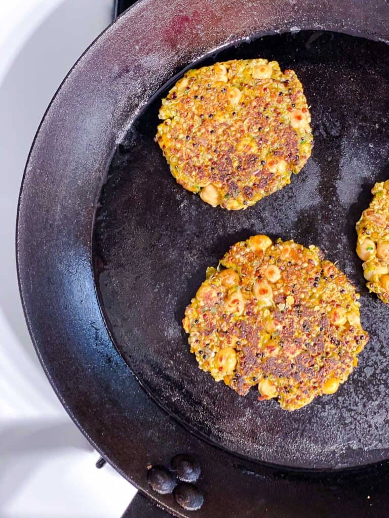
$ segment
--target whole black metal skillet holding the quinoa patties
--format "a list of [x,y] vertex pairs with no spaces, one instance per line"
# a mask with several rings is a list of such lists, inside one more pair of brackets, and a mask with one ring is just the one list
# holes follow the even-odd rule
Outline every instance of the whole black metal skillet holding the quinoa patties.
[[[37,353],[95,448],[177,516],[193,514],[195,491],[199,517],[387,516],[389,308],[367,293],[354,225],[389,177],[388,15],[378,1],[142,0],[81,57],[40,125],[17,229]],[[255,207],[212,209],[153,141],[160,99],[186,67],[256,56],[297,71],[313,154]],[[206,266],[256,233],[318,245],[362,294],[360,367],[294,413],[214,383],[180,323]],[[175,498],[151,489],[147,467],[176,454],[196,457],[201,477]]]

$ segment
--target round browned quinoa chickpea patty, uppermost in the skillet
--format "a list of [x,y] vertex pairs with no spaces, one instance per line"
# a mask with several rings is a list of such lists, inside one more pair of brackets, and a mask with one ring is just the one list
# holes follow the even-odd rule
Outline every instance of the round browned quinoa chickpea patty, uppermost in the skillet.
[[293,70],[233,60],[189,70],[162,100],[156,140],[172,175],[213,207],[244,209],[290,183],[311,155]]

